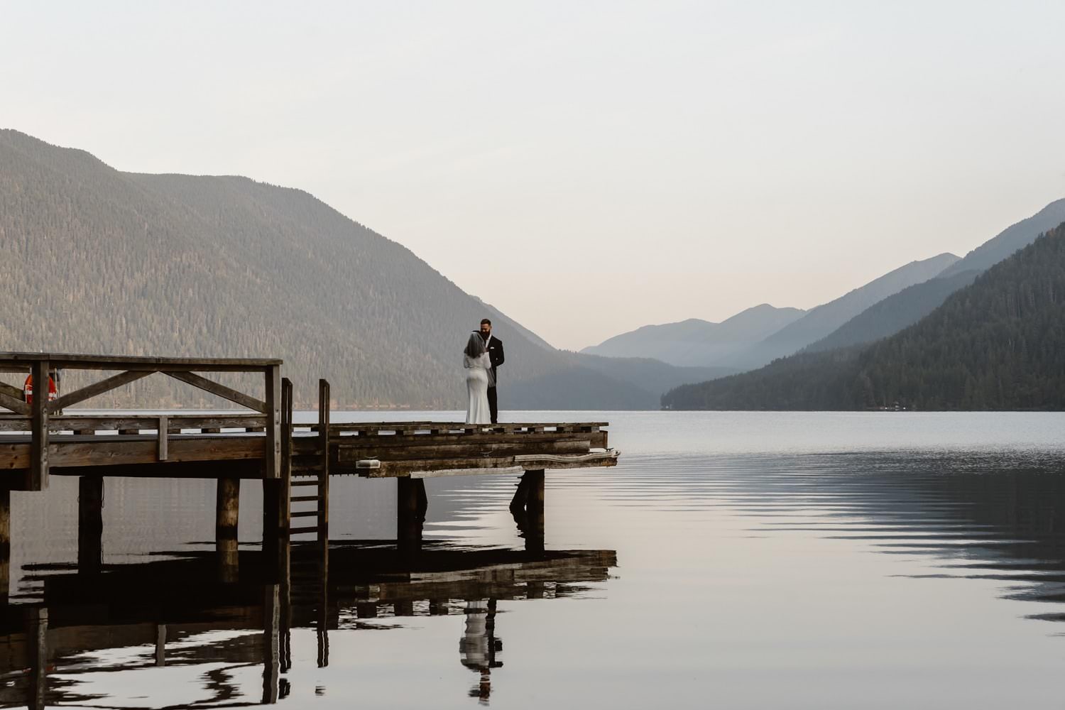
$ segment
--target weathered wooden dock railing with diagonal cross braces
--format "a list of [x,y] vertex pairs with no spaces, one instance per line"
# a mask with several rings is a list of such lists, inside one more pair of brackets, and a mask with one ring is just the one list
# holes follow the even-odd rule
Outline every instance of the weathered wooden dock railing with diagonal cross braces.
[[[63,394],[48,401],[48,378],[55,369],[120,370],[98,382]],[[151,358],[70,354],[55,352],[0,352],[0,373],[29,373],[33,377],[36,391],[32,402],[22,399],[22,392],[10,384],[0,384],[0,408],[10,410],[13,417],[3,417],[7,426],[24,427],[18,431],[30,432],[30,475],[27,488],[39,491],[48,484],[48,437],[53,430],[75,433],[99,430],[137,431],[149,429],[159,432],[161,455],[165,456],[167,433],[181,428],[181,417],[157,415],[146,417],[67,417],[59,416],[64,408],[79,404],[87,399],[129,384],[155,373],[161,373],[178,381],[191,384],[213,395],[232,401],[256,412],[258,418],[248,423],[234,424],[236,428],[262,426],[266,439],[265,477],[278,478],[281,472],[281,361],[267,359],[196,359],[196,358]],[[255,373],[263,376],[263,399],[233,390],[196,373]],[[259,416],[262,415],[262,416]],[[170,419],[174,419],[171,423]],[[209,417],[203,417],[209,418]],[[231,417],[219,417],[231,418]],[[54,419],[54,422],[52,420]],[[112,428],[113,427],[113,428]],[[190,424],[190,429],[196,428]],[[204,428],[223,429],[225,424],[200,422]],[[12,429],[6,429],[11,431]],[[165,433],[164,433],[165,431]],[[161,457],[162,458],[162,457]],[[165,460],[165,459],[164,459]]]

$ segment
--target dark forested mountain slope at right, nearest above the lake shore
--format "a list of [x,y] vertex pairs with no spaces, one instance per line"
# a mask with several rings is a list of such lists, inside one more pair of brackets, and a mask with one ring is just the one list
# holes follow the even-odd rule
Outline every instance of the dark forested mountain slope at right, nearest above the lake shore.
[[1065,224],[876,343],[801,352],[662,397],[672,409],[1065,409]]

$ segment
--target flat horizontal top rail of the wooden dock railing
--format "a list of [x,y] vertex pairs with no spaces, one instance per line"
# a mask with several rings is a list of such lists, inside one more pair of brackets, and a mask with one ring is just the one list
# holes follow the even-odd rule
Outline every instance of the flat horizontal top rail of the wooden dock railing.
[[257,371],[282,363],[273,358],[160,358],[72,352],[0,352],[0,373],[24,373],[35,362],[66,369],[125,369],[154,371]]

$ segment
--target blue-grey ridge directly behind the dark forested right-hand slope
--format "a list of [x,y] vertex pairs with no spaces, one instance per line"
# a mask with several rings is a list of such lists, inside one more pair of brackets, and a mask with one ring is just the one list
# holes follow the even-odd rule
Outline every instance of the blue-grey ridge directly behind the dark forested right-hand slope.
[[[1051,202],[1027,219],[1013,225],[958,262],[924,283],[903,288],[854,316],[807,350],[871,343],[911,326],[939,307],[947,296],[972,283],[978,274],[1035,241],[1039,234],[1065,221],[1065,199]],[[993,261],[994,260],[994,261]]]

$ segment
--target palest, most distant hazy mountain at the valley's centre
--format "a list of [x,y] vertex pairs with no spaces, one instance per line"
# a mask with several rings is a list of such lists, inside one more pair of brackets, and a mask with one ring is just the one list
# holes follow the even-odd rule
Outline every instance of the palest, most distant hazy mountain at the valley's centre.
[[800,309],[763,303],[721,323],[689,318],[643,326],[581,352],[610,358],[655,358],[683,366],[712,365],[776,332],[804,313]]

